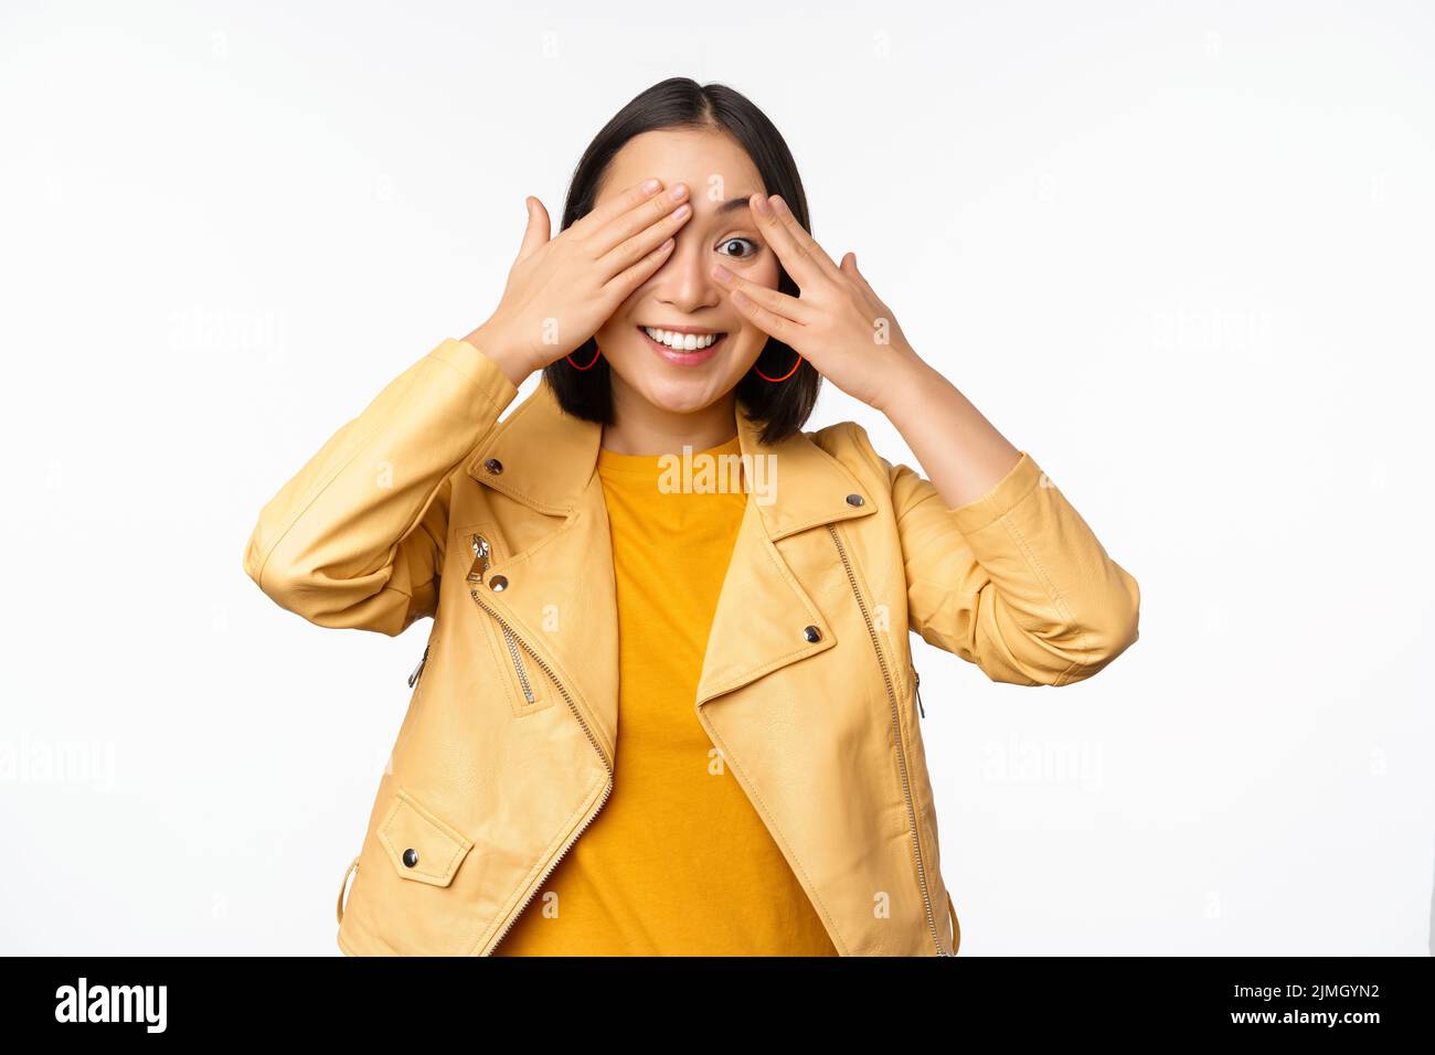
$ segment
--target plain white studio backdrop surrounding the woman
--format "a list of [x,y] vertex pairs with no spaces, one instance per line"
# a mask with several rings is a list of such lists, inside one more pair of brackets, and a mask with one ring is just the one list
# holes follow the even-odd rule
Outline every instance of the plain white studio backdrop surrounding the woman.
[[1418,3],[6,3],[0,952],[339,955],[428,623],[244,543],[684,75],[1142,587],[1065,689],[914,639],[963,955],[1428,955],[1432,55]]

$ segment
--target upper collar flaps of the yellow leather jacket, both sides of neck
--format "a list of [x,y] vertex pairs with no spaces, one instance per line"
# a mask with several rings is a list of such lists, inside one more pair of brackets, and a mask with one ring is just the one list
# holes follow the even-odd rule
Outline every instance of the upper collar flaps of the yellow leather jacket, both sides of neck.
[[[875,511],[872,495],[832,455],[798,433],[778,444],[761,441],[762,426],[735,412],[745,464],[763,458],[771,501],[751,497],[771,541]],[[580,498],[597,468],[603,426],[563,411],[548,382],[498,423],[468,462],[468,474],[518,502],[563,515]],[[497,461],[498,474],[485,465]],[[858,495],[860,504],[848,501]]]

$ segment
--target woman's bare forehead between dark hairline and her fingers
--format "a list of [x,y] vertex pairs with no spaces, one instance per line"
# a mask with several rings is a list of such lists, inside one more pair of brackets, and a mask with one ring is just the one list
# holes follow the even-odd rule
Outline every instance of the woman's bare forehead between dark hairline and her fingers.
[[692,192],[693,207],[738,195],[766,191],[758,167],[726,132],[659,129],[643,132],[623,144],[603,177],[597,201],[621,194],[633,184],[657,177],[664,187],[682,181]]

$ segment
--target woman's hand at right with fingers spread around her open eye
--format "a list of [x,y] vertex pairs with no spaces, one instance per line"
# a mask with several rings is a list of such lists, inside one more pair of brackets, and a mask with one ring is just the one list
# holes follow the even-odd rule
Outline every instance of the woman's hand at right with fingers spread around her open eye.
[[[778,195],[749,205],[799,296],[758,286],[722,264],[716,278],[743,319],[794,349],[818,373],[868,406],[885,411],[894,389],[923,366],[897,319],[857,270],[857,254],[832,263]],[[785,369],[785,367],[784,367]]]

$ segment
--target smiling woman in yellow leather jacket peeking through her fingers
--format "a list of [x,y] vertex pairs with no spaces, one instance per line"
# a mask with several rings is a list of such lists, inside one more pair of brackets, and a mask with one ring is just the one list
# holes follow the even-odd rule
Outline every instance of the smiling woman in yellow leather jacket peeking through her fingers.
[[[244,567],[283,607],[433,616],[343,952],[956,952],[908,632],[1071,685],[1139,594],[808,228],[761,111],[653,86],[558,237],[528,200],[492,316],[261,511]],[[821,378],[926,477],[855,423],[804,432]]]

